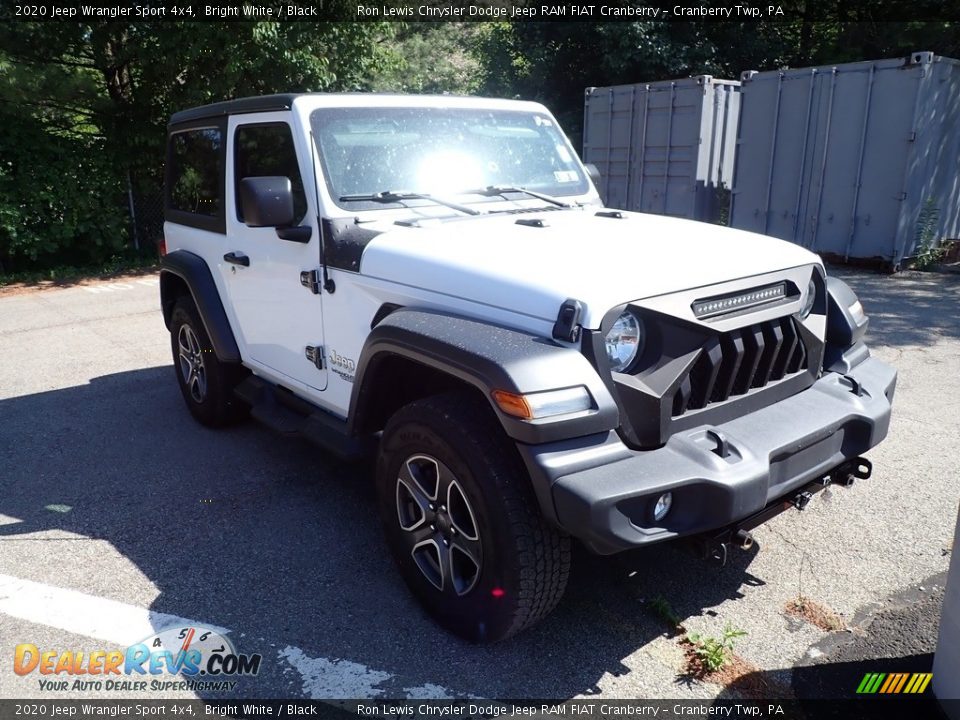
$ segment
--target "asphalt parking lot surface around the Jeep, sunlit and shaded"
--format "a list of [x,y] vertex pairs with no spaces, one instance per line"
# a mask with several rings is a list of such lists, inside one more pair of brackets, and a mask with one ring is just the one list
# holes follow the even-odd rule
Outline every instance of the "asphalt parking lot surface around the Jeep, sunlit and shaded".
[[[873,477],[761,526],[724,568],[675,546],[579,552],[557,611],[491,647],[421,612],[384,547],[366,470],[255,423],[212,431],[191,419],[156,277],[0,295],[0,697],[744,692],[687,674],[665,606],[691,632],[746,631],[737,655],[771,694],[831,692],[795,668],[831,653],[852,662],[847,638],[869,639],[892,596],[936,611],[960,497],[960,282],[837,274],[870,314],[873,353],[900,372]],[[788,615],[801,595],[853,632]],[[19,643],[89,653],[179,623],[259,653],[259,674],[225,692],[157,693],[51,691],[13,672]],[[922,664],[935,633],[923,625],[901,625],[919,644],[866,643],[854,660],[872,672]]]

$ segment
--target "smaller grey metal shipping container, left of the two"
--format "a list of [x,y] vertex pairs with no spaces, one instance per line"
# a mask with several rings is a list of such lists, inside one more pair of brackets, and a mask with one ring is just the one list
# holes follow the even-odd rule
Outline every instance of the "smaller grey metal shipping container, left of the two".
[[715,221],[733,178],[740,83],[710,75],[587,88],[583,158],[609,207]]

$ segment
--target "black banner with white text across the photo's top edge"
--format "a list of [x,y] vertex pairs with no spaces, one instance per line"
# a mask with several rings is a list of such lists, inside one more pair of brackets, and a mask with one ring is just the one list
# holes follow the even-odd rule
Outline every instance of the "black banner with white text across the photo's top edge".
[[916,22],[960,20],[960,0],[60,0],[4,2],[13,22]]

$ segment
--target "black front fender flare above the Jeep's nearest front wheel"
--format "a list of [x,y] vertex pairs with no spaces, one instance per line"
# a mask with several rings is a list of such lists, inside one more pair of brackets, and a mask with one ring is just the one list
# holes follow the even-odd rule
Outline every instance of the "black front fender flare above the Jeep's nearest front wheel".
[[[348,414],[350,431],[374,402],[378,366],[400,356],[447,373],[482,392],[506,434],[539,444],[615,429],[619,410],[597,371],[576,348],[498,325],[428,310],[401,308],[371,330],[360,353]],[[524,394],[583,385],[594,409],[574,417],[525,421],[507,415],[494,390]]]

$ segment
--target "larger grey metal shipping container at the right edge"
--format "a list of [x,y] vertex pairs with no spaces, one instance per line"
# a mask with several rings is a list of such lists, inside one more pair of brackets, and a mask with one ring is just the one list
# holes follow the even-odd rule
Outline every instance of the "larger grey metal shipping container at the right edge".
[[960,235],[960,63],[929,52],[745,72],[730,224],[900,266]]

